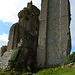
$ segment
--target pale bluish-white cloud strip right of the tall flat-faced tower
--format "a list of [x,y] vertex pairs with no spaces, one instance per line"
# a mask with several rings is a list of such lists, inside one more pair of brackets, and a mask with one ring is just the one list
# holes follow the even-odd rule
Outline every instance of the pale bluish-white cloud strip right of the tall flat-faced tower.
[[75,0],[70,0],[70,7],[71,7],[71,42],[72,47],[75,47]]

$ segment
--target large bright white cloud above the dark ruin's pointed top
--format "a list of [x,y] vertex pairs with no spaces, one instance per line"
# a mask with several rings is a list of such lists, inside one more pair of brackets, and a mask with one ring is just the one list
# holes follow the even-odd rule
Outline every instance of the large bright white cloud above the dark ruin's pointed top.
[[[0,20],[4,22],[17,22],[17,14],[26,7],[31,0],[0,0]],[[32,0],[40,8],[41,0]]]

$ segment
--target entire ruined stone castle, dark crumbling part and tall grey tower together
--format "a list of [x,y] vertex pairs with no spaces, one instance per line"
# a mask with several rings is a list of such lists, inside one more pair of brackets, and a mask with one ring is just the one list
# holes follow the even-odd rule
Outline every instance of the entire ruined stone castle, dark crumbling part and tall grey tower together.
[[27,71],[58,67],[70,54],[69,0],[42,0],[41,8],[40,14],[31,1],[18,13],[19,21],[10,28],[8,47],[1,52],[0,68],[9,67],[13,60],[15,69]]

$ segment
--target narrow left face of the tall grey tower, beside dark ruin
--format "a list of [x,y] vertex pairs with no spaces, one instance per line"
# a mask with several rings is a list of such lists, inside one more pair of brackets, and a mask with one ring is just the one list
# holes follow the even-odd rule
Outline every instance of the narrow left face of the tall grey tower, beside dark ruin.
[[45,67],[46,62],[46,30],[47,30],[47,0],[42,0],[40,14],[39,41],[37,49],[37,65]]

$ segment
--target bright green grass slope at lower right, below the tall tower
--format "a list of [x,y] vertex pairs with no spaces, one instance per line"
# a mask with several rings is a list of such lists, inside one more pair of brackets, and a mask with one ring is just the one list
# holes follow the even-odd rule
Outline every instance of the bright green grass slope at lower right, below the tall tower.
[[33,75],[75,75],[75,68],[45,69]]

